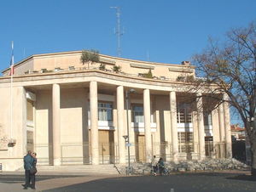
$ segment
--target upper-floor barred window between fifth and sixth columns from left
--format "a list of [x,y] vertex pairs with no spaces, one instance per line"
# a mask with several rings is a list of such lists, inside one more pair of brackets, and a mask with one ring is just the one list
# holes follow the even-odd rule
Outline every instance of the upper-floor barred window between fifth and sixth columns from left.
[[177,123],[191,123],[192,115],[189,104],[177,104]]

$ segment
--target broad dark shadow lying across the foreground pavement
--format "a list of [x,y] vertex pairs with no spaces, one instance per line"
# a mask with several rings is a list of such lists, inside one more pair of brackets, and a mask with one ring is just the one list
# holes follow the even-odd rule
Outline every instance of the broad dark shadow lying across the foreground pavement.
[[244,192],[245,190],[255,191],[256,183],[248,183],[247,181],[249,179],[252,178],[247,175],[222,172],[180,173],[156,177],[150,175],[127,176],[121,178],[102,178],[88,182],[84,181],[80,184],[70,184],[65,187],[47,189],[44,191],[155,192],[172,191],[172,189],[182,192]]

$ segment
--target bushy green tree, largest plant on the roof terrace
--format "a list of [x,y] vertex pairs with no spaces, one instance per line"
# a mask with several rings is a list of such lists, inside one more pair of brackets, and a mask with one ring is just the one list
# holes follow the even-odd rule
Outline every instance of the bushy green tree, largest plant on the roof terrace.
[[88,69],[89,69],[89,65],[93,65],[94,63],[98,63],[100,61],[99,53],[100,53],[99,50],[96,50],[93,48],[91,48],[90,51],[88,51],[87,49],[84,49],[84,51],[80,56],[80,62],[83,65],[87,63]]

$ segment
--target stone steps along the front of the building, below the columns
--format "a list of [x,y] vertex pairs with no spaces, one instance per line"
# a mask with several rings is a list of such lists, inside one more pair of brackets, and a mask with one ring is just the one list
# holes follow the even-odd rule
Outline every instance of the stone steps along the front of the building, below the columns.
[[[165,167],[170,172],[196,172],[207,170],[222,170],[222,169],[249,169],[246,164],[234,159],[218,159],[218,160],[203,160],[203,161],[173,161],[164,162]],[[68,165],[68,166],[38,166],[38,173],[56,172],[56,174],[122,174],[128,172],[127,165],[124,164],[104,164],[104,165]],[[18,172],[24,172],[23,167],[20,167]],[[151,163],[131,163],[131,174],[148,174],[151,172]]]

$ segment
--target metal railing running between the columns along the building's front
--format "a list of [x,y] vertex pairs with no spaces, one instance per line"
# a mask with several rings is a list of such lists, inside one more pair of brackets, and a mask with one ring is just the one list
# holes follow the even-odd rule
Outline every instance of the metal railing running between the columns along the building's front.
[[[125,140],[124,140],[125,142]],[[178,154],[179,160],[199,160],[199,144],[183,144],[183,151]],[[206,157],[208,159],[225,158],[225,143],[206,142]],[[53,147],[51,144],[26,145],[27,150],[36,151],[38,154],[38,165],[53,165]],[[118,164],[119,145],[117,143],[99,144],[99,163]],[[61,165],[91,164],[90,144],[61,144]],[[125,147],[125,154],[127,147]],[[145,144],[131,143],[131,162],[146,161]],[[168,142],[153,143],[152,152],[162,157],[165,161],[172,161],[172,144]],[[126,155],[128,161],[128,155]]]

